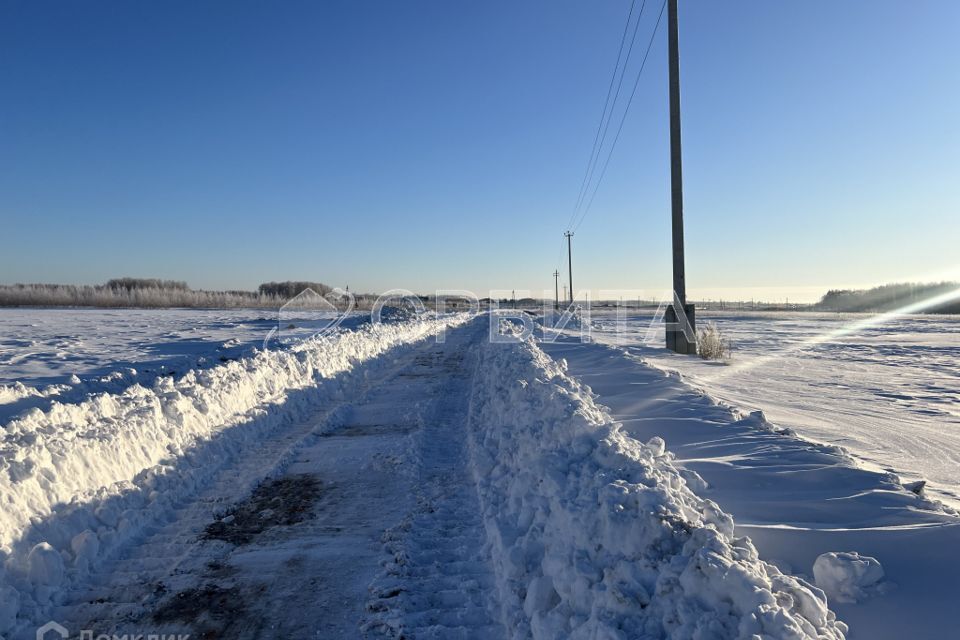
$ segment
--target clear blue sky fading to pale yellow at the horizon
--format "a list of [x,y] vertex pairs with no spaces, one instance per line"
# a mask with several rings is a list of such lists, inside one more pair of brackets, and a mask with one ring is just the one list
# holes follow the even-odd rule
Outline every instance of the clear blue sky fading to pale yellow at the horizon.
[[[957,276],[960,2],[680,4],[692,297]],[[629,6],[0,0],[0,282],[552,288]],[[670,284],[664,26],[578,289]]]

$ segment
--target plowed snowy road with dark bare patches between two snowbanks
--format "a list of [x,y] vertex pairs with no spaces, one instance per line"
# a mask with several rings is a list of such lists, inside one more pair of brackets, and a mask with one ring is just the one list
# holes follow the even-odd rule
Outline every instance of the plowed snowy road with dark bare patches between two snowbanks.
[[416,344],[238,456],[55,619],[77,636],[502,636],[465,451],[484,328]]

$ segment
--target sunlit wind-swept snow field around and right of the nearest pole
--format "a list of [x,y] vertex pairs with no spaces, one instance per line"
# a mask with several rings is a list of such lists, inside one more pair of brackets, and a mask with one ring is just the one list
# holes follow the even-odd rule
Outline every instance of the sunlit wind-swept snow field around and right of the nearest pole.
[[711,396],[762,410],[780,427],[836,444],[875,469],[926,480],[960,507],[960,318],[700,312],[734,345],[728,365],[641,342],[651,319],[595,313],[597,340],[633,353]]

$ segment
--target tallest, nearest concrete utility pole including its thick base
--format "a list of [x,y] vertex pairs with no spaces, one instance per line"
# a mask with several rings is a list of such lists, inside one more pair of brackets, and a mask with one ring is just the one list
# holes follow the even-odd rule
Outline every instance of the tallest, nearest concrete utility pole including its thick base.
[[[687,304],[687,280],[683,260],[683,167],[680,144],[680,25],[677,0],[667,0],[667,39],[670,60],[670,195],[673,212],[673,291],[674,304],[667,310],[667,348],[677,353],[697,353],[696,337],[687,339],[678,324],[685,313],[696,332],[694,305]],[[676,305],[680,305],[680,310]],[[694,333],[694,336],[696,334]]]

